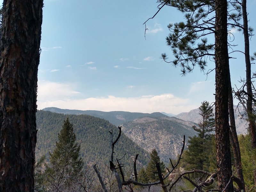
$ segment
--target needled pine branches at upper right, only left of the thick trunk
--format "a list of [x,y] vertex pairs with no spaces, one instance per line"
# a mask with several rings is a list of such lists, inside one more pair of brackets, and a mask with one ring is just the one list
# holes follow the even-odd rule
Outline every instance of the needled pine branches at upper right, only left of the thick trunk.
[[[158,0],[158,2],[166,2]],[[166,37],[172,49],[174,66],[180,66],[182,75],[191,72],[196,65],[204,70],[207,58],[214,56],[214,43],[208,43],[206,35],[214,34],[214,4],[212,1],[170,0],[167,5],[184,12],[185,22],[169,24],[171,33]],[[162,54],[166,61],[167,55]]]

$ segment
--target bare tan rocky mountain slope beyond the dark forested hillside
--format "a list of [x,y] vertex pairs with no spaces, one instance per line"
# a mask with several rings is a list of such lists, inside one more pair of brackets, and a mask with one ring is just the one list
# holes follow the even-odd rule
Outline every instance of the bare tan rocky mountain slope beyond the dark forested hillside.
[[180,154],[183,135],[187,141],[188,137],[196,134],[191,128],[193,125],[175,117],[145,117],[122,124],[123,132],[130,139],[149,153],[155,148],[165,163]]

